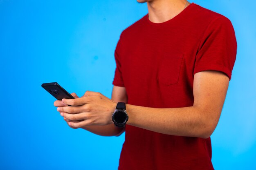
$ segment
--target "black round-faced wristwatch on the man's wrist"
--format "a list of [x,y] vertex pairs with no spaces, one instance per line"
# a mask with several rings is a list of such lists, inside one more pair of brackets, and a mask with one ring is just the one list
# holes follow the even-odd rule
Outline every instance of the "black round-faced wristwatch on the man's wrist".
[[112,114],[112,121],[117,127],[124,127],[128,121],[128,114],[126,112],[126,106],[124,102],[118,102],[117,107]]

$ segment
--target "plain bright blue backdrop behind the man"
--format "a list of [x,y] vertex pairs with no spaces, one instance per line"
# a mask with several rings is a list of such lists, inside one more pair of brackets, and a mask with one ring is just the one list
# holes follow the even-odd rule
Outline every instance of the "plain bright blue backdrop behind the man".
[[[238,53],[219,124],[216,170],[256,169],[254,1],[195,0],[231,20]],[[42,87],[110,97],[123,29],[147,13],[135,0],[0,0],[0,169],[117,169],[124,142],[71,129]]]

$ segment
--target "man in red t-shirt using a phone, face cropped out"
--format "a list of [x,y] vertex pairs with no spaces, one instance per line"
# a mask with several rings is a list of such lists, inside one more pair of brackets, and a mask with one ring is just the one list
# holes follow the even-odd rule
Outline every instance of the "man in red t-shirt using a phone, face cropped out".
[[233,26],[186,0],[137,1],[148,14],[120,35],[112,98],[87,91],[54,105],[72,128],[125,130],[119,170],[212,170],[210,136],[236,60]]

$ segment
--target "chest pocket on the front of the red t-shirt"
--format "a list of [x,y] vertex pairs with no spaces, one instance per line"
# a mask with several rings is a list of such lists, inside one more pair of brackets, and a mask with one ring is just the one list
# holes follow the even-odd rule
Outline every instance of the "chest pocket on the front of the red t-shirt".
[[182,53],[164,53],[159,61],[159,84],[168,86],[178,83],[183,56]]

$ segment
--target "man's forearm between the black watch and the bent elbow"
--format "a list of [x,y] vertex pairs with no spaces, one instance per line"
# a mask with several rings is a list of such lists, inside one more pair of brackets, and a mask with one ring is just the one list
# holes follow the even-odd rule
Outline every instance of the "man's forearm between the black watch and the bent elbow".
[[126,104],[126,110],[128,125],[167,135],[208,138],[218,123],[199,106],[148,108]]

